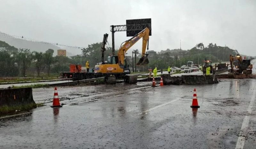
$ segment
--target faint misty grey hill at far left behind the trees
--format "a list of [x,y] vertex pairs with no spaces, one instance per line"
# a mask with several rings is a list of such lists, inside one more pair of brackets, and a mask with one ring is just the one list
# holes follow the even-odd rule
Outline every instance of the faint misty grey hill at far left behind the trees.
[[[4,34],[0,32],[0,41],[5,41],[11,46],[14,46],[15,48],[27,48],[30,49],[30,51],[36,51],[36,52],[45,52],[49,48],[54,50],[53,55],[57,55],[57,50],[58,49],[63,49],[55,45],[51,44],[45,44],[45,43],[40,43],[36,41],[27,41],[19,38],[15,38],[14,36],[10,37],[8,34]],[[72,54],[71,51],[72,49],[68,48],[67,50],[67,56],[74,56],[75,54]]]

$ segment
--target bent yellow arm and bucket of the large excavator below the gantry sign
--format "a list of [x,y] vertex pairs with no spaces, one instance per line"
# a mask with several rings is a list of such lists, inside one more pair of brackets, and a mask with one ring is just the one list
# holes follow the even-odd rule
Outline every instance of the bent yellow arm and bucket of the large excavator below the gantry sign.
[[[140,33],[136,34],[133,36],[131,39],[124,41],[121,45],[121,47],[118,50],[118,63],[119,65],[124,65],[124,59],[125,59],[125,53],[128,49],[130,49],[137,41],[142,38],[142,51],[141,51],[141,58],[137,65],[143,65],[143,64],[148,64],[148,55],[145,54],[147,44],[148,44],[148,39],[149,39],[149,29],[146,27],[144,30],[142,30]],[[147,48],[148,49],[148,48]]]

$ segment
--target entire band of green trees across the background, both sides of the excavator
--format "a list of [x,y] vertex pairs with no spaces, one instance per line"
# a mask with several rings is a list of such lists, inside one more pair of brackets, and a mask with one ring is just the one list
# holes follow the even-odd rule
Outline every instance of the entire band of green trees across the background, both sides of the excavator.
[[[10,46],[4,41],[0,41],[0,76],[40,76],[42,72],[50,75],[60,71],[69,71],[69,64],[81,64],[85,66],[89,61],[90,67],[94,67],[101,62],[101,45],[102,43],[93,43],[88,48],[81,49],[83,56],[53,56],[54,50],[48,49],[45,52],[35,52],[29,49],[18,49]],[[196,64],[202,64],[205,59],[212,62],[229,61],[230,54],[236,54],[235,50],[228,47],[217,46],[210,43],[204,47],[203,43],[196,44],[190,50],[180,50],[176,53],[156,53],[149,55],[149,64],[137,69],[145,69],[157,67],[158,69],[167,69],[168,66],[186,65],[188,61]],[[116,51],[117,52],[117,51]],[[107,47],[105,51],[105,61],[112,54],[112,48]],[[137,53],[136,60],[138,62],[140,54]],[[132,67],[132,59],[127,58],[130,68]],[[134,58],[135,66],[135,58]]]

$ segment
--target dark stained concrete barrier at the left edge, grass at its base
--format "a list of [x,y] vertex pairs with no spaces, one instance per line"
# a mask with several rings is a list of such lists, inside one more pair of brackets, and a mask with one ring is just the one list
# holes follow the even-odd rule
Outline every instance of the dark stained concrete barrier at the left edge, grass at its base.
[[0,90],[0,106],[19,106],[26,104],[36,104],[33,100],[31,87]]

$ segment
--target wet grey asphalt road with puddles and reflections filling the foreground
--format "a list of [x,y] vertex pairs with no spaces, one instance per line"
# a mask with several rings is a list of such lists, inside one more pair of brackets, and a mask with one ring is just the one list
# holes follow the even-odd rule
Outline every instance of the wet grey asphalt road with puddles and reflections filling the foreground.
[[[61,87],[62,108],[46,103],[31,114],[0,119],[0,148],[205,149],[236,148],[237,142],[255,148],[255,85],[255,79],[226,79],[156,88]],[[198,109],[190,108],[194,88]],[[53,96],[53,88],[33,92],[37,102]]]

